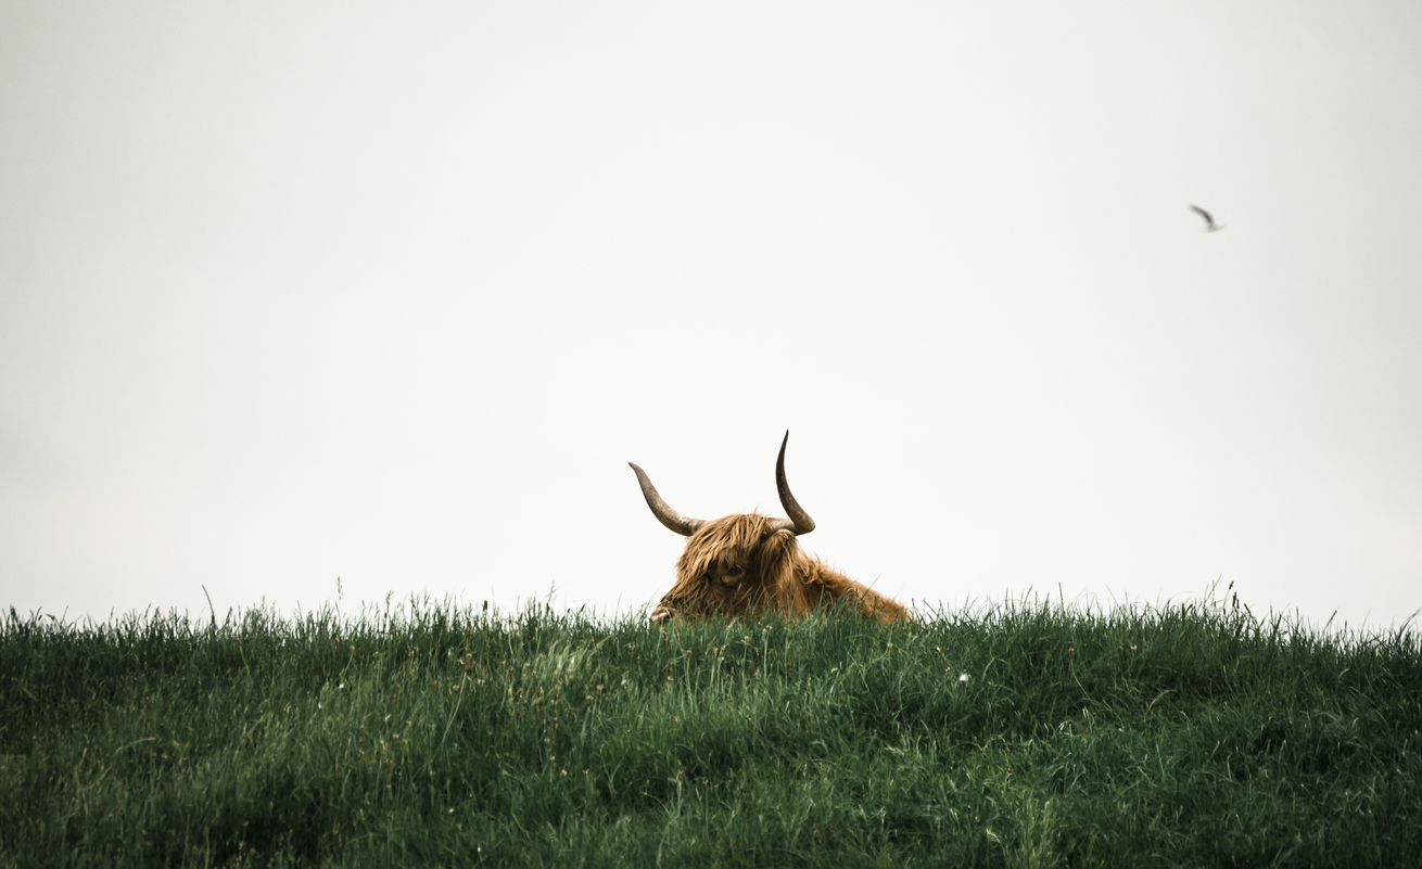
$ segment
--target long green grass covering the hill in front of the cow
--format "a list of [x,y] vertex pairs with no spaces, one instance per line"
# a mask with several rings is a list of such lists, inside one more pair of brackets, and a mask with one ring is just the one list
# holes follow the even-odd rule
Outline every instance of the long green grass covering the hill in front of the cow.
[[11,614],[0,866],[1405,866],[1419,730],[1411,627],[1214,603]]

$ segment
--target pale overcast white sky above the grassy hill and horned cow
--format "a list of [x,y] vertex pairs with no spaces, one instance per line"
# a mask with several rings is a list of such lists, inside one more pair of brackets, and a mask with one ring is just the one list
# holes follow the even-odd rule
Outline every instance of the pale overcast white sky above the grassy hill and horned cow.
[[[1422,607],[1422,6],[0,0],[0,604]],[[1226,229],[1204,233],[1189,203]]]

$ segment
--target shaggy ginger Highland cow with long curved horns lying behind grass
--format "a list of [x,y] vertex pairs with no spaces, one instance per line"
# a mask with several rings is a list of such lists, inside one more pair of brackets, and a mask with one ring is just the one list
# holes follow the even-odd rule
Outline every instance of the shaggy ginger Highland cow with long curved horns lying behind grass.
[[785,444],[789,439],[786,431],[775,461],[775,486],[789,519],[744,513],[707,522],[683,516],[661,499],[647,474],[631,465],[653,515],[688,538],[687,549],[677,559],[677,582],[651,610],[653,622],[708,613],[729,617],[747,610],[806,616],[840,597],[852,599],[880,622],[912,620],[902,604],[799,550],[796,535],[815,531],[815,521],[795,502],[785,482]]

